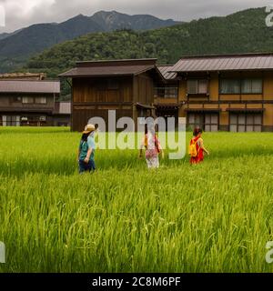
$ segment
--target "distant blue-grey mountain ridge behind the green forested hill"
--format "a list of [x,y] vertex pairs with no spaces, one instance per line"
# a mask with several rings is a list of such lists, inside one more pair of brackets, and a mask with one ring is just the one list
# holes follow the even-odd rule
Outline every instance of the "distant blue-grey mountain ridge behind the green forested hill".
[[92,16],[77,15],[61,24],[31,25],[13,34],[0,35],[0,73],[24,65],[29,56],[80,35],[124,28],[147,30],[176,24],[173,20],[161,20],[151,15],[100,11]]

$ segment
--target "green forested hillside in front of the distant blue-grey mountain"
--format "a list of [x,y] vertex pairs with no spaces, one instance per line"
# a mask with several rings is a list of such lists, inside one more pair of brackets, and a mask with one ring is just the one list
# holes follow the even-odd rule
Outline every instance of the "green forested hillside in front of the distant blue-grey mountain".
[[182,55],[272,52],[273,27],[265,25],[266,16],[264,8],[257,8],[141,33],[84,35],[35,55],[25,70],[56,77],[76,61],[156,57],[158,63],[174,64]]

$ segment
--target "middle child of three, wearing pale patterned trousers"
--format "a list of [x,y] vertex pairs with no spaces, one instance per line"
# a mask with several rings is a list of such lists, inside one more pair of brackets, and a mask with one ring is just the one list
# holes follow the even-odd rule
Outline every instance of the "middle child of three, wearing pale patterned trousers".
[[145,136],[140,147],[139,157],[142,157],[143,148],[146,148],[146,161],[147,167],[158,168],[159,167],[159,158],[158,155],[161,153],[162,158],[164,158],[164,152],[160,146],[159,140],[155,133],[154,126],[148,130],[148,126],[145,125]]

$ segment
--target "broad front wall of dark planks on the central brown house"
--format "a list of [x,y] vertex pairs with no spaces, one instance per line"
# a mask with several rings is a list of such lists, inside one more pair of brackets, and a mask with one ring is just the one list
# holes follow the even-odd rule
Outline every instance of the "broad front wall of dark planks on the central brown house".
[[102,117],[107,129],[108,110],[116,119],[133,116],[133,76],[73,79],[72,130],[82,131],[92,117]]

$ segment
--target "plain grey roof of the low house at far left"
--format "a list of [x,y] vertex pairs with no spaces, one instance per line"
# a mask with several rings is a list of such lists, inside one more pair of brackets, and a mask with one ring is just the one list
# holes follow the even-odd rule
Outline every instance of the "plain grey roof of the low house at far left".
[[0,80],[0,93],[60,94],[60,81]]

